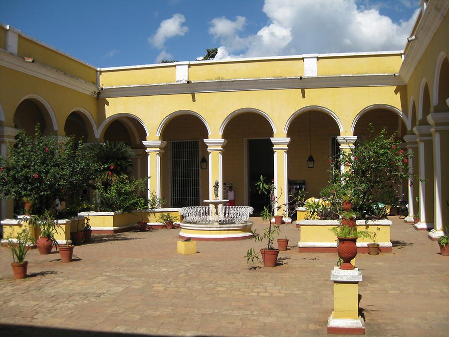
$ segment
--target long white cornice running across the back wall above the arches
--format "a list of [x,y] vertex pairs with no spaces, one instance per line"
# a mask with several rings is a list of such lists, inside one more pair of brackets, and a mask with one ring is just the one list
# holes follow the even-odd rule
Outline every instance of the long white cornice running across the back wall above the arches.
[[192,94],[224,91],[276,90],[299,88],[338,88],[405,85],[393,74],[365,74],[340,76],[304,76],[283,78],[247,78],[198,81],[192,83],[165,83],[104,87],[100,98]]

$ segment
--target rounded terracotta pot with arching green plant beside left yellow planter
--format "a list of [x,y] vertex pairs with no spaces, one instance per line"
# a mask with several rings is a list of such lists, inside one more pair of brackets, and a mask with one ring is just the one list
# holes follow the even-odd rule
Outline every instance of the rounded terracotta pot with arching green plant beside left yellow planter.
[[56,219],[50,214],[50,211],[46,210],[43,215],[25,216],[23,219],[40,230],[39,239],[36,241],[39,254],[50,254],[53,244],[57,245],[54,234],[58,227],[61,228]]

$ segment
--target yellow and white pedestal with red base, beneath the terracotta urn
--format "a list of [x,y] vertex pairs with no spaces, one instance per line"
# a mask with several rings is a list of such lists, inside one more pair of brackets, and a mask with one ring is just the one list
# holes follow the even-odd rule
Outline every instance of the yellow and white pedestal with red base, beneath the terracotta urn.
[[359,316],[359,282],[362,274],[358,268],[331,271],[334,282],[334,310],[327,321],[329,334],[365,334],[365,324]]

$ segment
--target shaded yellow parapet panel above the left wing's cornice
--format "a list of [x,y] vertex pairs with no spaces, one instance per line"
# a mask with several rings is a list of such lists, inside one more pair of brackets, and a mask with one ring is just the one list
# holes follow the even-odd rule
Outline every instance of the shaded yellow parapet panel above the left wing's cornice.
[[96,69],[58,53],[42,44],[26,37],[18,36],[17,55],[34,58],[34,62],[45,64],[51,68],[95,84]]

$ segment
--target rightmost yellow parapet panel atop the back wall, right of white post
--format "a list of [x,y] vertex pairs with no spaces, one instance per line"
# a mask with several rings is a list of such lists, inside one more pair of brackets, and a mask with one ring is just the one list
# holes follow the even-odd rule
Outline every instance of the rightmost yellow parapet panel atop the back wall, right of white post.
[[318,57],[318,76],[344,74],[395,74],[401,54]]

